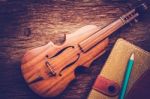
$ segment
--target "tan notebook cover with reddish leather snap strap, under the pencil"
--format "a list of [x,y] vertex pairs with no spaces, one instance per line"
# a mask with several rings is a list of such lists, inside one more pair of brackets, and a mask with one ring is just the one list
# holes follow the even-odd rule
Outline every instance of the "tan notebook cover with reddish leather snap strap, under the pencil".
[[131,53],[134,53],[134,65],[128,83],[126,95],[135,82],[150,69],[150,53],[118,39],[102,71],[98,75],[88,99],[118,99],[124,73]]

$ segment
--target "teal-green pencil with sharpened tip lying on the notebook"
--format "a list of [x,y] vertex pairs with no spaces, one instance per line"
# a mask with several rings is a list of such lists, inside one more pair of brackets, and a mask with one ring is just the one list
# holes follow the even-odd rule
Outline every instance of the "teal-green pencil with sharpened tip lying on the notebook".
[[134,63],[134,53],[132,53],[132,55],[130,56],[130,59],[128,61],[128,65],[127,65],[126,72],[124,75],[124,80],[123,80],[122,88],[120,91],[119,99],[124,99],[126,89],[128,86],[128,82],[129,82],[129,78],[130,78],[130,74],[132,71],[133,63]]

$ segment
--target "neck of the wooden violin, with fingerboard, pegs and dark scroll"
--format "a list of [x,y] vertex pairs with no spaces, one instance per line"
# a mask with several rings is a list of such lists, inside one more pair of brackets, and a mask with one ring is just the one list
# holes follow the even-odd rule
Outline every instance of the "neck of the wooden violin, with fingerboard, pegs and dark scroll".
[[107,38],[109,35],[114,33],[116,30],[137,18],[140,15],[140,13],[143,13],[145,10],[147,10],[147,6],[143,3],[137,8],[124,14],[119,19],[104,27],[103,29],[94,32],[93,35],[91,35],[89,38],[80,42],[79,47],[83,52],[87,52],[92,47],[96,46],[96,44],[98,44],[99,42]]

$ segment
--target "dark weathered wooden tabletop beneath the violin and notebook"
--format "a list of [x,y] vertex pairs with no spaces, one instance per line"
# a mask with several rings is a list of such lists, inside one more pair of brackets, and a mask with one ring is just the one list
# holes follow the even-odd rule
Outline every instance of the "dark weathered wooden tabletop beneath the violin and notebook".
[[[0,99],[42,98],[28,88],[21,75],[20,61],[25,51],[49,41],[61,44],[64,34],[88,24],[104,27],[136,4],[136,0],[0,0]],[[149,12],[138,23],[126,25],[113,34],[107,52],[89,69],[78,68],[76,79],[54,99],[85,99],[117,38],[150,51]]]

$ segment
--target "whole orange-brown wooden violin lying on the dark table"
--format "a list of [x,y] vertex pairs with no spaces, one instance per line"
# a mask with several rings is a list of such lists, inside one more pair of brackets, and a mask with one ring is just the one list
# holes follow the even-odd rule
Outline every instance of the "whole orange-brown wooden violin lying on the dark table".
[[136,19],[147,9],[145,3],[100,29],[87,25],[66,35],[62,45],[48,44],[29,50],[22,59],[22,75],[29,87],[43,97],[59,95],[75,78],[78,66],[88,68],[104,54],[112,33]]

